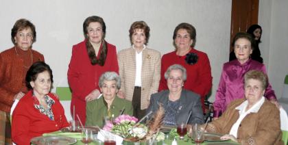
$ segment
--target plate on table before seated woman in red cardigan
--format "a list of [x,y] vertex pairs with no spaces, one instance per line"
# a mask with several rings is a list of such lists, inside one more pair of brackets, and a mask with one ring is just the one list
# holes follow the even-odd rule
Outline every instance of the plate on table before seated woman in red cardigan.
[[77,142],[77,140],[75,138],[65,137],[65,136],[40,136],[40,137],[34,137],[31,140],[32,144],[38,144],[38,145],[75,144],[76,142]]

